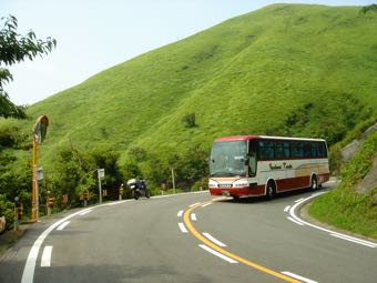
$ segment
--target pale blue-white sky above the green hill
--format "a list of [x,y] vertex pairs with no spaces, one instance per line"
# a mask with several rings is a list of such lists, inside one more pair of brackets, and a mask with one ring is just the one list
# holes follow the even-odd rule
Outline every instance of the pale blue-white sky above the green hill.
[[48,55],[10,67],[13,81],[4,90],[13,103],[31,105],[131,58],[276,2],[366,6],[377,0],[0,0],[0,17],[14,16],[19,33],[32,30],[39,39],[58,41]]

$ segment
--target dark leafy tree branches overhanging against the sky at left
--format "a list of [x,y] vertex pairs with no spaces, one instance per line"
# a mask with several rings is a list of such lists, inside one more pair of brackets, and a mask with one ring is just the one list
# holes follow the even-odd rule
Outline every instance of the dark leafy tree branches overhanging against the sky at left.
[[[3,24],[2,24],[3,22]],[[37,55],[42,57],[51,52],[57,47],[57,40],[47,38],[44,41],[37,39],[31,30],[26,36],[17,33],[18,21],[16,17],[0,18],[0,117],[24,119],[23,107],[18,107],[9,99],[3,85],[13,80],[12,74],[7,68],[14,63],[33,60]]]

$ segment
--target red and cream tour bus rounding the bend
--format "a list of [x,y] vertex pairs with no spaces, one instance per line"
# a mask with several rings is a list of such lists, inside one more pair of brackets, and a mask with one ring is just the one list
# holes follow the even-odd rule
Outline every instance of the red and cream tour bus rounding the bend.
[[212,195],[265,195],[322,186],[328,181],[327,144],[322,139],[234,135],[216,139],[210,158]]

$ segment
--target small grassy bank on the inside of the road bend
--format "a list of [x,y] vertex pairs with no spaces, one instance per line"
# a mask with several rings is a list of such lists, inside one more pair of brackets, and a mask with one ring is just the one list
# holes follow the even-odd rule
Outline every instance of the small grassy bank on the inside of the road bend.
[[368,174],[376,180],[374,162],[377,162],[377,133],[363,143],[359,152],[344,168],[340,185],[315,200],[309,213],[334,226],[377,239],[376,182],[360,190],[360,183]]

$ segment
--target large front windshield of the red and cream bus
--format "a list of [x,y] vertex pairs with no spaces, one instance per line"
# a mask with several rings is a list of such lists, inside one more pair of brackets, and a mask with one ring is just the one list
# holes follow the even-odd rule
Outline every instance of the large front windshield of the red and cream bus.
[[211,176],[246,175],[246,141],[215,142],[211,151]]

